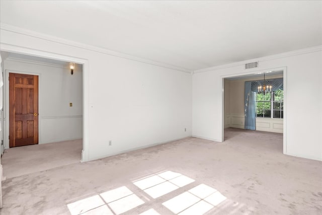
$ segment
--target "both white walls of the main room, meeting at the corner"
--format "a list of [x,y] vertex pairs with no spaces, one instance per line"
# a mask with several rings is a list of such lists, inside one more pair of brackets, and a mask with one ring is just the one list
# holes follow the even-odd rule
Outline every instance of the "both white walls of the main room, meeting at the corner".
[[[191,134],[221,141],[222,78],[252,70],[245,71],[244,62],[204,72],[200,70],[193,75],[191,85],[189,73],[171,66],[140,62],[140,59],[128,59],[111,51],[92,49],[13,27],[1,29],[0,41],[4,51],[35,53],[55,59],[77,58],[75,62],[86,62],[84,118],[88,120],[84,125],[87,129],[83,132],[86,134],[83,161]],[[286,132],[284,129],[284,134],[287,134],[284,138],[287,139],[286,154],[322,160],[321,47],[315,49],[256,60],[260,62],[258,70],[287,67],[287,79],[284,74],[289,92],[284,114],[287,117],[284,120],[287,124]],[[307,94],[299,88],[299,83],[315,93]],[[299,105],[298,98],[306,98],[309,105]],[[312,118],[319,120],[312,122]],[[298,124],[307,126],[299,128]],[[111,147],[108,140],[113,142]]]

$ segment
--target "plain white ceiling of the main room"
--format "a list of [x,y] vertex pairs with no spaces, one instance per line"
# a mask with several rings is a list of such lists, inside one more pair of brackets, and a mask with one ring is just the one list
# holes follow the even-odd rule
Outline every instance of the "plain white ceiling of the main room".
[[2,24],[190,70],[322,45],[321,1],[0,1],[0,8]]

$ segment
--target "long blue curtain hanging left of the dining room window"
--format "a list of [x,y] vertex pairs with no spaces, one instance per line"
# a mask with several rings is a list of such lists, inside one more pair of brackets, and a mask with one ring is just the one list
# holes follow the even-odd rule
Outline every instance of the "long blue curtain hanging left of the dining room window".
[[245,82],[245,129],[256,129],[255,92],[252,82]]

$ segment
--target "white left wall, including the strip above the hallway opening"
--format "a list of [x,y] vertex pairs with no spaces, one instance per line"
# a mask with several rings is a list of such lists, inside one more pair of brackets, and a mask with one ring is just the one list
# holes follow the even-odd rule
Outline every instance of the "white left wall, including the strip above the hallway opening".
[[191,136],[190,73],[29,31],[1,29],[0,36],[7,51],[86,62],[83,161]]

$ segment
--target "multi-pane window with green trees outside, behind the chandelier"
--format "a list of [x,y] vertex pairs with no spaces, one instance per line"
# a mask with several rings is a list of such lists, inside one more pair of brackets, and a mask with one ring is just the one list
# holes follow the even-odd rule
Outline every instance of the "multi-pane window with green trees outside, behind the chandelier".
[[283,90],[256,94],[256,117],[283,119]]

